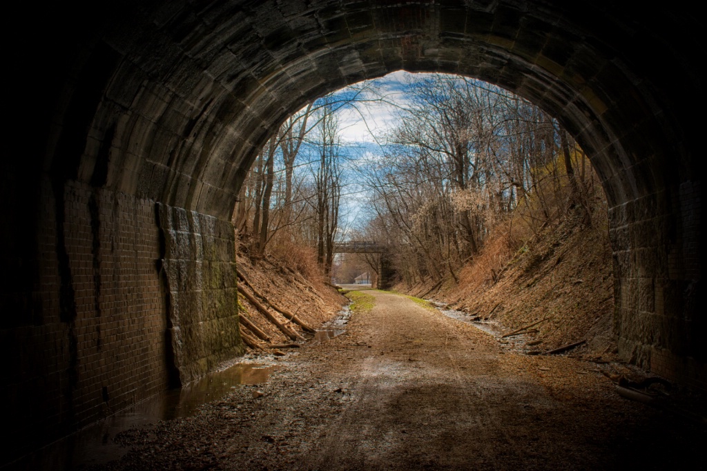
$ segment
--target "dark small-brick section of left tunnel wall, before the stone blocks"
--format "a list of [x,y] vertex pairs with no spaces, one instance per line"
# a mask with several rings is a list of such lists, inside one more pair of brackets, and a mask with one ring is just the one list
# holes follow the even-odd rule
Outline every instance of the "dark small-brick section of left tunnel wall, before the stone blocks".
[[39,312],[29,325],[6,328],[5,319],[0,330],[15,454],[170,379],[154,203],[78,183],[44,181],[41,191],[37,278],[25,293]]

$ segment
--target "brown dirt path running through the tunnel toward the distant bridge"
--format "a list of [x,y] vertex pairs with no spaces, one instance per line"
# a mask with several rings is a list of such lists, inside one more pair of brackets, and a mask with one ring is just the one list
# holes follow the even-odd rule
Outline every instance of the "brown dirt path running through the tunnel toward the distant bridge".
[[[526,357],[383,292],[346,334],[195,417],[122,437],[105,469],[618,470],[707,460],[704,427],[621,399],[594,366]],[[263,393],[261,397],[254,396]],[[660,453],[655,453],[660,450]],[[103,469],[103,468],[101,468]]]

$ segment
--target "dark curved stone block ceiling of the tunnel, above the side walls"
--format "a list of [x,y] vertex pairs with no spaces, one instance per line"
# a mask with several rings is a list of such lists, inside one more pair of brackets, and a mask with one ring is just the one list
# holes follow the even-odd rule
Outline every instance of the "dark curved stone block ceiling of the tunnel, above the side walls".
[[[689,11],[600,1],[151,1],[49,11],[43,168],[228,218],[288,114],[391,71],[461,73],[560,119],[611,205],[694,174]],[[58,21],[58,18],[62,18]],[[51,32],[52,35],[49,35]],[[38,53],[40,59],[42,52]],[[677,165],[676,165],[677,164]]]

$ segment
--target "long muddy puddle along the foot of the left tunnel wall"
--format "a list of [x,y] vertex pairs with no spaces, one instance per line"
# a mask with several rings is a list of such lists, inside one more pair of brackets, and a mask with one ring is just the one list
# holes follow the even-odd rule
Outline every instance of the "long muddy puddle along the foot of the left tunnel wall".
[[[194,415],[199,406],[226,395],[240,384],[264,383],[278,366],[235,364],[182,388],[153,396],[11,465],[11,469],[80,470],[119,459],[128,452],[115,437],[131,430],[149,431],[163,420]],[[129,432],[128,432],[129,433]],[[119,441],[119,439],[118,439]]]

